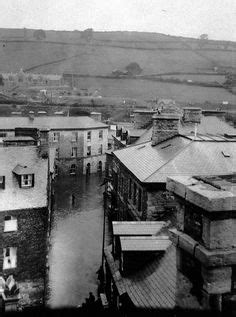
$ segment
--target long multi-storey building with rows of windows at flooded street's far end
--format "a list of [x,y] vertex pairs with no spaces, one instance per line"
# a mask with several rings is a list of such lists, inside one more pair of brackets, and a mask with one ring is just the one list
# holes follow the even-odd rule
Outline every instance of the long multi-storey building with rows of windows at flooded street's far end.
[[108,126],[90,117],[0,117],[0,136],[15,128],[48,128],[49,146],[56,150],[59,175],[90,174],[105,169]]

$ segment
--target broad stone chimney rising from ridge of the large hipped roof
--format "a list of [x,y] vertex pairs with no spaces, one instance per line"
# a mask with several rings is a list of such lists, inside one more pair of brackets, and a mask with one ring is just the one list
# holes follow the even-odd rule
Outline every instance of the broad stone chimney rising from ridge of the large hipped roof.
[[155,114],[153,116],[152,146],[179,134],[177,114]]

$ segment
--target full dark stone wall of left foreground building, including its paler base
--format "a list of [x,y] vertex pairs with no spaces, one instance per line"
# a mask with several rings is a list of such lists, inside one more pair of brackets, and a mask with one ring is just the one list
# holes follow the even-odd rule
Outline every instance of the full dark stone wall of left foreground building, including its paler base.
[[[17,219],[17,231],[4,232],[5,216]],[[0,274],[13,274],[20,287],[20,306],[41,305],[47,254],[47,209],[0,213]],[[3,270],[3,248],[17,248],[16,268]]]

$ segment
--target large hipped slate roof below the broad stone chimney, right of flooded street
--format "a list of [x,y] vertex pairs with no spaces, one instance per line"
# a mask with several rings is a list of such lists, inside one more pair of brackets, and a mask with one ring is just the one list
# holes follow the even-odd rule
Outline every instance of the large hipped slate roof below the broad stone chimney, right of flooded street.
[[236,140],[219,137],[193,140],[179,135],[156,146],[146,142],[113,154],[144,183],[165,183],[172,175],[222,175],[236,171]]

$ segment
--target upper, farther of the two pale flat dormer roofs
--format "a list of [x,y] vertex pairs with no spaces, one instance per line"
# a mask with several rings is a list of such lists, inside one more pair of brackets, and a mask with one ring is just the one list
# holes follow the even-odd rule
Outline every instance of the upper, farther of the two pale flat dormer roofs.
[[154,235],[165,225],[164,221],[112,221],[113,235]]

